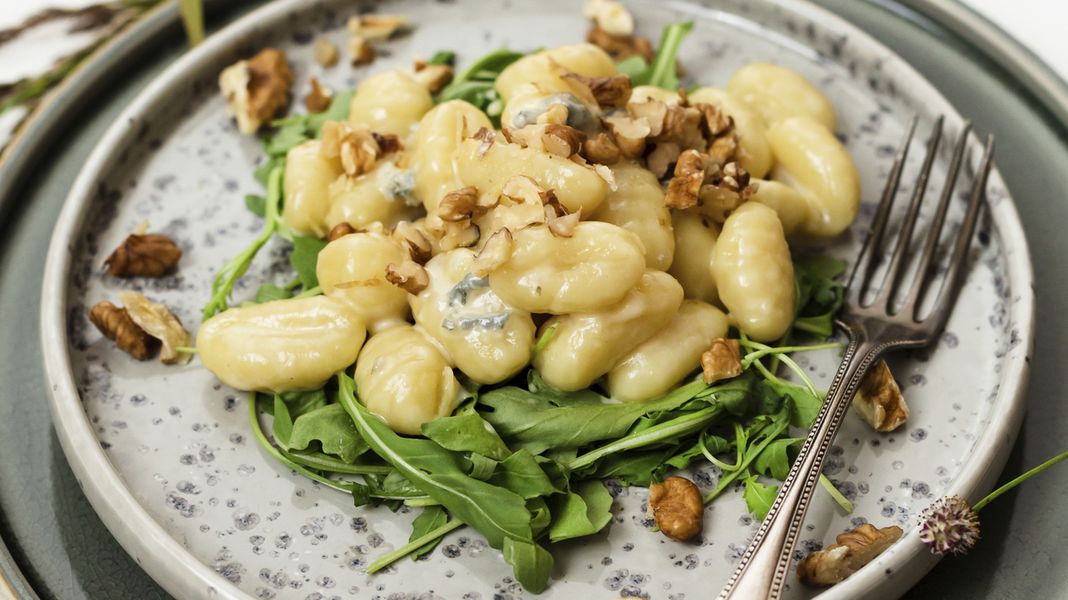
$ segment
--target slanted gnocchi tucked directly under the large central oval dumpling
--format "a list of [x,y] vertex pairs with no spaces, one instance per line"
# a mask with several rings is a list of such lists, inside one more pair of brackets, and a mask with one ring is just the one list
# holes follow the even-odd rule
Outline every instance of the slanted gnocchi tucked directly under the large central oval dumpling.
[[549,335],[548,342],[534,356],[534,367],[557,390],[588,388],[666,326],[681,303],[677,281],[663,271],[645,271],[619,302],[546,321],[541,333]]

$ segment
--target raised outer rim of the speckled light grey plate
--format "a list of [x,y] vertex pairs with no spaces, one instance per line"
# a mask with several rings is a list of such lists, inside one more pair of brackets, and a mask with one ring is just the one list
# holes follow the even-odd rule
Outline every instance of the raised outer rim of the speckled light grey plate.
[[[725,0],[723,3],[737,4],[739,0]],[[930,86],[929,99],[933,100],[937,112],[956,117],[960,113],[953,107],[942,93],[921,75],[910,63],[881,42],[837,16],[822,6],[804,0],[764,0],[778,6],[821,22],[824,27],[848,32],[857,36],[865,47],[881,52],[890,61],[889,70],[899,76],[918,78]],[[676,0],[673,4],[682,4],[693,9],[708,9],[707,0]],[[234,38],[260,29],[263,21],[273,22],[280,15],[299,10],[304,3],[301,0],[273,0],[254,11],[235,19],[223,29],[209,36],[203,44],[182,56],[177,61],[158,74],[152,82],[142,90],[136,98],[122,111],[114,124],[94,146],[88,160],[75,179],[70,191],[63,201],[62,210],[57,219],[52,238],[48,246],[48,255],[42,285],[41,335],[42,353],[45,364],[45,376],[49,383],[49,410],[52,424],[57,431],[63,452],[70,463],[75,477],[85,492],[94,510],[100,517],[108,530],[115,536],[123,549],[164,589],[177,597],[208,596],[234,600],[251,598],[236,585],[218,574],[208,565],[199,560],[192,553],[173,538],[163,526],[157,522],[136,500],[132,491],[123,481],[114,465],[99,445],[93,433],[88,414],[81,402],[74,381],[70,366],[70,356],[66,328],[66,304],[68,288],[68,272],[73,258],[74,246],[68,240],[76,239],[75,234],[82,225],[85,212],[92,203],[92,190],[96,185],[96,174],[106,171],[112,159],[111,148],[123,143],[130,133],[128,125],[136,115],[157,102],[174,80],[189,69],[198,69],[203,63],[224,52],[233,45]],[[974,139],[972,143],[977,143]],[[1006,189],[996,165],[991,172],[991,183]],[[1006,202],[1007,200],[1007,202]],[[999,398],[991,412],[990,421],[984,430],[984,438],[992,444],[978,448],[971,454],[954,480],[947,493],[974,498],[978,492],[990,489],[1001,472],[1012,443],[1019,431],[1019,426],[1025,408],[1025,394],[1030,377],[1030,357],[1034,346],[1035,332],[1035,295],[1033,288],[1034,270],[1030,250],[1024,236],[1015,201],[1008,195],[1001,202],[999,210],[1006,211],[1010,217],[1007,221],[998,222],[998,231],[1006,242],[1019,243],[1014,252],[1006,256],[1006,270],[1009,273],[1010,289],[1019,299],[1009,306],[1012,322],[1020,326],[1022,335],[1018,346],[1022,351],[1010,351],[1006,360],[1006,370],[1003,372]],[[63,351],[57,356],[50,349],[60,348]],[[992,469],[996,467],[996,469]],[[913,549],[907,549],[907,547]],[[864,569],[849,578],[848,584],[836,585],[820,598],[848,598],[858,593],[875,594],[874,597],[895,597],[898,593],[886,589],[886,580],[897,580],[894,587],[904,594],[916,581],[922,579],[937,563],[937,558],[920,551],[918,533],[910,530],[902,540]],[[192,573],[194,578],[188,575]]]

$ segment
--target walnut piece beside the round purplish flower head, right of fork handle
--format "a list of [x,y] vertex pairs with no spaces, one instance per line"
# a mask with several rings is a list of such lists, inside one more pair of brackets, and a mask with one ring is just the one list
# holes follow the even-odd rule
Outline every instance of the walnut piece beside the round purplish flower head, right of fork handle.
[[900,539],[901,527],[877,528],[870,523],[838,534],[834,543],[808,554],[798,565],[798,578],[808,585],[834,585],[855,573],[892,543]]

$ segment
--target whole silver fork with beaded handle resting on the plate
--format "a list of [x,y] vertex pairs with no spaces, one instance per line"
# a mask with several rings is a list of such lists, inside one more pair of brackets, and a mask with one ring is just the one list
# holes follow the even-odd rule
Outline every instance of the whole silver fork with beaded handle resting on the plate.
[[[896,306],[895,299],[901,289],[901,279],[912,262],[909,247],[920,215],[920,205],[923,203],[924,192],[927,188],[927,180],[930,177],[931,165],[934,163],[934,156],[942,138],[942,123],[943,119],[940,116],[927,141],[927,155],[924,158],[923,169],[916,178],[912,199],[898,234],[897,244],[889,255],[890,263],[885,275],[877,288],[870,288],[871,280],[879,265],[880,249],[886,233],[886,224],[890,222],[894,198],[897,195],[905,159],[916,129],[916,120],[913,119],[909,126],[905,141],[894,159],[890,179],[883,189],[882,200],[871,223],[870,233],[849,278],[845,306],[836,319],[837,326],[849,336],[845,357],[834,376],[831,389],[828,391],[827,400],[816,416],[816,422],[813,424],[804,445],[801,446],[801,452],[795,460],[789,475],[783,481],[779,496],[775,498],[771,510],[768,511],[768,516],[760,524],[753,541],[745,549],[745,553],[731,575],[731,580],[720,593],[721,600],[727,598],[740,600],[776,599],[780,597],[786,582],[794,544],[797,542],[805,511],[808,508],[808,501],[823,467],[823,458],[831,441],[842,426],[843,417],[864,374],[886,350],[926,346],[933,342],[945,327],[968,264],[968,251],[978,221],[987,175],[990,172],[993,137],[987,138],[986,148],[972,185],[964,220],[957,234],[948,270],[943,279],[939,296],[928,314],[921,314],[923,300],[933,285],[932,279],[934,278],[931,273],[931,265],[939,247],[942,225],[945,222],[945,215],[953,198],[971,130],[971,126],[965,124],[960,133],[949,171],[946,174],[941,200],[923,246],[918,267],[915,270],[912,284],[905,295],[904,302],[900,306]],[[870,295],[869,293],[874,293],[875,298],[865,302],[865,299]]]

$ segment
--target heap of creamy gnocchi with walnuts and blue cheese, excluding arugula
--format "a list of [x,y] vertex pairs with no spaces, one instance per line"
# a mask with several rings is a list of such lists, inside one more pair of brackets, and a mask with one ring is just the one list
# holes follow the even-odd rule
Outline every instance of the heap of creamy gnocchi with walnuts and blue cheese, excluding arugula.
[[[323,295],[208,319],[204,365],[282,392],[355,362],[365,406],[418,435],[460,401],[456,372],[494,384],[532,366],[559,390],[603,381],[639,402],[731,327],[781,337],[795,316],[787,240],[833,237],[859,206],[831,102],[771,64],[689,94],[625,79],[592,44],[527,56],[497,78],[500,128],[465,100],[435,106],[402,70],[365,79],[348,119],[285,161],[288,228],[352,232],[318,255]],[[706,163],[690,206],[669,198],[686,153]]]

